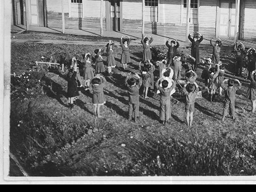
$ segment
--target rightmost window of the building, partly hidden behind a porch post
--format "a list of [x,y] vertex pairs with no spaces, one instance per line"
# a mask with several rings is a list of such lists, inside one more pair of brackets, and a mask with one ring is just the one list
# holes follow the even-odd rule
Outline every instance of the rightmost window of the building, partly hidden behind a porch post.
[[[187,22],[187,2],[188,2],[188,0],[183,0],[183,1],[184,1],[183,24],[185,24]],[[190,4],[190,23],[191,24],[198,24],[199,1],[200,0],[191,0],[191,4]]]

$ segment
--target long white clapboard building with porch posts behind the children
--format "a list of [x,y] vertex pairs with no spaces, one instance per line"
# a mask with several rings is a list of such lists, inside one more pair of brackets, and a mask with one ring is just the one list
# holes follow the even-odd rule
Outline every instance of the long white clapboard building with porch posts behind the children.
[[[18,18],[26,15],[23,22],[29,26],[63,28],[64,19],[66,29],[100,28],[101,0],[12,0],[14,6],[19,1],[25,1],[27,13],[22,17],[18,10],[23,8],[13,10]],[[145,33],[169,37],[195,31],[206,37],[256,40],[256,0],[103,0],[102,16],[104,31],[141,33],[144,18]]]

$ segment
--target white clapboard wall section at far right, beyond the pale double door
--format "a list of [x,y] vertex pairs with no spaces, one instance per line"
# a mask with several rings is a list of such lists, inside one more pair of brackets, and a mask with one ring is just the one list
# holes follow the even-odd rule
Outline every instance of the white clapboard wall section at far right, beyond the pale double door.
[[256,0],[245,1],[244,38],[256,39]]

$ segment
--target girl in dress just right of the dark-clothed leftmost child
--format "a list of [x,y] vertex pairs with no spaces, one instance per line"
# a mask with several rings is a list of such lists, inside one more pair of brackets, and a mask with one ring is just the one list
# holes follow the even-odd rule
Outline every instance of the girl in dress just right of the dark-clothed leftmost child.
[[85,65],[84,65],[84,80],[85,80],[85,91],[89,90],[90,82],[94,78],[94,70],[92,68],[91,54],[85,54]]

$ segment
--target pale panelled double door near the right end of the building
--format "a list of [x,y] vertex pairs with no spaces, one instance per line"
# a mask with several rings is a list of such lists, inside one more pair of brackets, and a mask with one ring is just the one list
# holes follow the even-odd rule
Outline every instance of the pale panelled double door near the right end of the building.
[[235,36],[236,4],[231,1],[221,2],[220,5],[220,37]]

